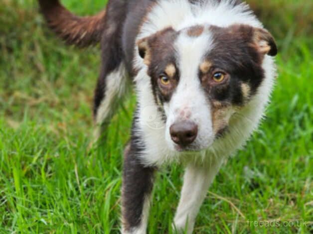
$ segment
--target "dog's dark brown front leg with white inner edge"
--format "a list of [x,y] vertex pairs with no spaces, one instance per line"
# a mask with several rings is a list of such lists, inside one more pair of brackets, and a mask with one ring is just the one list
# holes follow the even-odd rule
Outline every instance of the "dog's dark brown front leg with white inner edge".
[[125,150],[122,187],[122,233],[146,234],[155,168],[146,167],[140,149],[131,143]]

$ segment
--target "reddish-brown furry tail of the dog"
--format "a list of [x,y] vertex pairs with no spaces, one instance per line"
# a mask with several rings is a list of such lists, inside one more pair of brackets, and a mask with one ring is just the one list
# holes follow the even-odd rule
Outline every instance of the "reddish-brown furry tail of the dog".
[[85,47],[101,40],[105,10],[94,16],[79,17],[59,0],[39,0],[39,5],[49,27],[68,44]]

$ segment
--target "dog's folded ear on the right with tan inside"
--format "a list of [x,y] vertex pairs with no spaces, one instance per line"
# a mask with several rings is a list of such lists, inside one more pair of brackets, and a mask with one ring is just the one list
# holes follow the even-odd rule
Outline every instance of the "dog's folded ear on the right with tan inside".
[[277,46],[271,33],[263,28],[254,28],[253,34],[253,41],[260,53],[270,56],[277,55]]

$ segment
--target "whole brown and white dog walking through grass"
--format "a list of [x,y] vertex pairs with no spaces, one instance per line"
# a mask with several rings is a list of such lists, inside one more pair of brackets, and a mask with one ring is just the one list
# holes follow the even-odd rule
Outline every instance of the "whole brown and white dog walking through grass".
[[109,0],[78,17],[58,0],[39,0],[49,26],[69,44],[100,42],[94,98],[98,134],[134,81],[137,110],[125,150],[122,233],[147,229],[154,174],[186,166],[173,226],[194,221],[223,160],[249,138],[269,102],[277,47],[239,0]]

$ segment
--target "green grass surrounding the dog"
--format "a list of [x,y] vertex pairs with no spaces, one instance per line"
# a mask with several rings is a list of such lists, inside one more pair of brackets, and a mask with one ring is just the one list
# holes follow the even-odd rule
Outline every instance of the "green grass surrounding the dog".
[[[82,14],[103,6],[64,2]],[[216,177],[197,234],[313,231],[312,37],[286,32],[278,42],[267,118]],[[118,233],[135,97],[113,118],[105,146],[87,153],[99,48],[66,47],[45,27],[35,0],[2,0],[0,55],[0,233]],[[158,174],[149,233],[172,233],[181,174],[179,165]],[[247,223],[271,220],[281,227]]]

